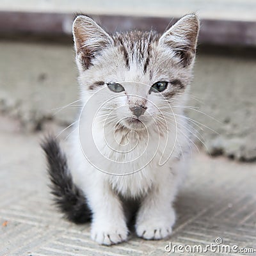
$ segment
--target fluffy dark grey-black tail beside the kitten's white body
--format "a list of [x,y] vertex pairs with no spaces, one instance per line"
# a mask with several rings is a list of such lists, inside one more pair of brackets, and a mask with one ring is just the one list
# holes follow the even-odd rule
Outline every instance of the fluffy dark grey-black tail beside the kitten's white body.
[[58,141],[45,138],[41,144],[47,158],[47,172],[51,179],[51,193],[58,209],[67,220],[74,223],[90,221],[92,212],[86,203],[83,191],[77,188],[67,166],[67,157],[61,152]]

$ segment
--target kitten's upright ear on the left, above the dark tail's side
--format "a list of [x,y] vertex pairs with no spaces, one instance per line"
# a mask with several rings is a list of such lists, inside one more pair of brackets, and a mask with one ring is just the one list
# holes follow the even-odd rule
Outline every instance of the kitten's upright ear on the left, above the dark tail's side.
[[73,22],[74,44],[77,60],[83,70],[92,64],[92,59],[113,45],[113,39],[100,26],[87,16],[79,15]]

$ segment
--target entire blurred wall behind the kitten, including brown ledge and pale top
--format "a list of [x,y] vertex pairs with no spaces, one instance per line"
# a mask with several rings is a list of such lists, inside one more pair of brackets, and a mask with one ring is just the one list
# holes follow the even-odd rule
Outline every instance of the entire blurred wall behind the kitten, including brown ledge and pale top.
[[78,98],[71,35],[77,12],[109,32],[164,31],[182,15],[197,13],[201,30],[188,103],[196,108],[187,111],[200,132],[198,145],[211,155],[256,159],[254,0],[1,0],[2,119],[11,117],[23,132],[44,130],[50,121],[72,123],[77,109],[58,108]]

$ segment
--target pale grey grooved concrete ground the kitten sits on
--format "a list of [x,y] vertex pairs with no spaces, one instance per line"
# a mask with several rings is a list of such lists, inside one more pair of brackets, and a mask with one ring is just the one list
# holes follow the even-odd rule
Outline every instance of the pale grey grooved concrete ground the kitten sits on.
[[[52,206],[42,150],[42,132],[22,134],[18,123],[0,116],[0,255],[168,255],[166,245],[223,244],[253,248],[256,255],[256,164],[194,154],[188,180],[175,203],[177,223],[163,241],[131,235],[127,243],[100,246],[89,225],[61,219]],[[55,128],[57,131],[60,128]],[[65,135],[63,135],[65,138]],[[218,242],[218,240],[217,240]],[[167,250],[170,247],[166,248]],[[172,255],[227,255],[181,253]]]

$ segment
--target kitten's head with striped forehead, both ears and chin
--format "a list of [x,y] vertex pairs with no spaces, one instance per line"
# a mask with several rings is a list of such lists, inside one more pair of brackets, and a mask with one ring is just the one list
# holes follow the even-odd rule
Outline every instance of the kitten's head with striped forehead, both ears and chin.
[[169,122],[186,100],[198,28],[196,15],[186,15],[163,35],[109,35],[79,15],[73,35],[84,104],[92,96],[94,106],[106,114],[102,116],[131,130]]

